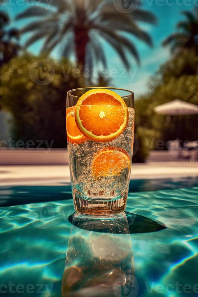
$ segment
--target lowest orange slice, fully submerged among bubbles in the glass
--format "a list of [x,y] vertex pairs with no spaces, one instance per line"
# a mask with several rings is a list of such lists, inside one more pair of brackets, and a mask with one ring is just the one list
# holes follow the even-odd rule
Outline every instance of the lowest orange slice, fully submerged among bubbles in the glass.
[[120,175],[124,169],[130,169],[131,162],[128,153],[118,147],[106,147],[97,152],[92,162],[92,175],[101,176]]

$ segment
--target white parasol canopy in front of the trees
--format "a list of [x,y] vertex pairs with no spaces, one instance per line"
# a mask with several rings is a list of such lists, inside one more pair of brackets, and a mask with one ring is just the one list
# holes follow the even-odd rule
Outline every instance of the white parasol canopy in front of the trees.
[[154,111],[163,115],[194,115],[198,105],[176,99],[154,107]]

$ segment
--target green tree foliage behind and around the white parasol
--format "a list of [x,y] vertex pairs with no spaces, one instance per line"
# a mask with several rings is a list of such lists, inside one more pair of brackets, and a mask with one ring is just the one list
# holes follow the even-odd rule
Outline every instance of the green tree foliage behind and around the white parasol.
[[[198,57],[195,53],[184,52],[172,58],[160,67],[151,79],[150,91],[136,102],[136,123],[138,126],[160,132],[164,142],[176,138],[176,122],[180,123],[180,139],[196,140],[195,129],[197,115],[172,116],[167,121],[165,115],[159,115],[153,108],[157,105],[180,99],[198,105]],[[157,138],[156,138],[157,140]]]

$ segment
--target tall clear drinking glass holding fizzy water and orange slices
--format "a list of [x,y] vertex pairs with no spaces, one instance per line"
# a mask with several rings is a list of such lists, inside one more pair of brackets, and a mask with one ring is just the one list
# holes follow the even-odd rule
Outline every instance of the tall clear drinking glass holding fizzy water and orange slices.
[[[101,89],[101,102],[87,105],[85,120],[90,123],[90,130],[95,129],[97,121],[92,122],[92,110],[98,110],[100,121],[111,126],[111,117],[107,113],[114,110],[113,128],[125,115],[124,131],[112,134],[105,132],[105,139],[91,140],[84,135],[77,117],[77,102],[87,91]],[[114,102],[106,105],[104,92],[113,91],[122,99],[120,106]],[[79,105],[79,104],[78,104]],[[83,108],[85,108],[83,106]],[[90,111],[90,113],[89,113]],[[87,118],[88,117],[88,118]],[[106,122],[105,122],[106,121]],[[110,122],[108,122],[110,121]],[[80,88],[67,93],[66,126],[69,168],[74,209],[77,212],[92,215],[109,215],[123,212],[126,208],[130,181],[131,162],[134,143],[134,93],[117,88]],[[106,126],[105,126],[106,127]],[[81,131],[79,130],[81,129]],[[94,131],[95,131],[94,130]],[[114,131],[114,130],[113,130]],[[119,130],[118,130],[119,131]],[[72,134],[72,135],[71,135]],[[109,135],[107,135],[109,134]],[[97,136],[96,136],[97,137]]]

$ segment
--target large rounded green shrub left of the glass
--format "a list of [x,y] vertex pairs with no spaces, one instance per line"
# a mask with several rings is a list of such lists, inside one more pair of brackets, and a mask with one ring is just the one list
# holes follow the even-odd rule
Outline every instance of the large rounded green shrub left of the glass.
[[83,85],[82,78],[71,75],[72,69],[66,59],[57,62],[30,54],[2,66],[0,105],[13,116],[16,141],[46,140],[54,141],[54,148],[66,146],[66,93]]

